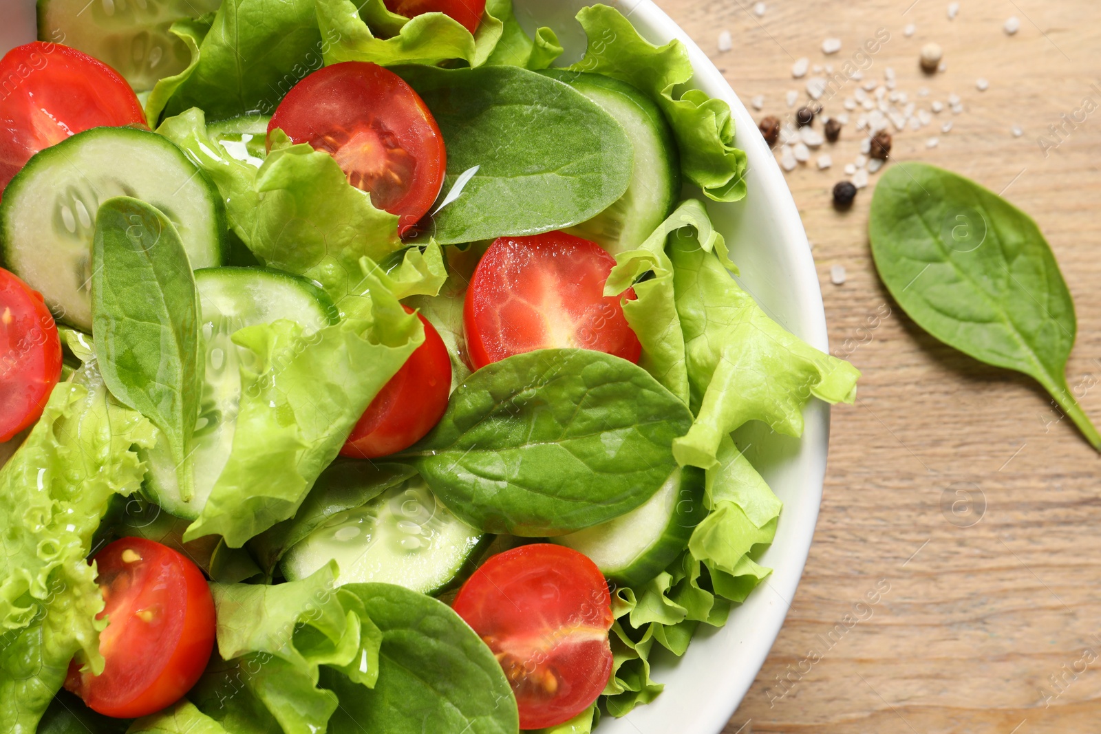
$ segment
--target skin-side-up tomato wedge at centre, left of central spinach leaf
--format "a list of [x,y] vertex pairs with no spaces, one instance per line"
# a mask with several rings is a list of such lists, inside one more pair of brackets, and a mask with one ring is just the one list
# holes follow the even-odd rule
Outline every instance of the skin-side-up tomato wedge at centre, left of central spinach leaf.
[[424,438],[444,416],[451,390],[451,358],[436,327],[417,317],[424,325],[424,343],[367,406],[340,449],[342,456],[374,459],[396,453]]

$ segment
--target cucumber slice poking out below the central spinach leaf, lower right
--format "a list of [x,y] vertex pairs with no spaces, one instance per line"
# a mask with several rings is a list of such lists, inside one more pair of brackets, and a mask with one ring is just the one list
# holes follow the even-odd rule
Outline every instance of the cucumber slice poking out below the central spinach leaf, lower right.
[[685,549],[693,529],[707,515],[704,479],[702,469],[675,469],[641,507],[550,541],[581,551],[617,583],[645,583]]

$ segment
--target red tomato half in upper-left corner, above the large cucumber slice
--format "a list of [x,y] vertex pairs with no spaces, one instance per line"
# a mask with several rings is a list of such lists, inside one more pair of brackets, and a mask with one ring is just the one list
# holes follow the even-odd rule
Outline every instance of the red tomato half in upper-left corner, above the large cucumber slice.
[[35,41],[0,59],[0,189],[31,156],[89,128],[145,124],[133,89],[110,66]]

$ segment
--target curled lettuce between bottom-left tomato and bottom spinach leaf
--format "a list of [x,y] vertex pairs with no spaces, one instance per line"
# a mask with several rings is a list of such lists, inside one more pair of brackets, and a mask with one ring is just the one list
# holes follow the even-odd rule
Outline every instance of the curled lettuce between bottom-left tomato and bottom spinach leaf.
[[211,584],[218,655],[188,694],[198,710],[233,734],[315,734],[339,705],[318,688],[323,665],[373,686],[382,633],[336,573],[330,563],[273,587]]

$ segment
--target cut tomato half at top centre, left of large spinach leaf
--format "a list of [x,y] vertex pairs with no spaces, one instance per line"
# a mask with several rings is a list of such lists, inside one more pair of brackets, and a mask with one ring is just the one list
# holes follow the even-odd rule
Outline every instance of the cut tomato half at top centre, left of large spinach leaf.
[[314,72],[280,102],[269,134],[276,128],[336,158],[349,184],[401,216],[403,233],[444,185],[447,153],[436,120],[412,87],[378,64],[344,62]]

